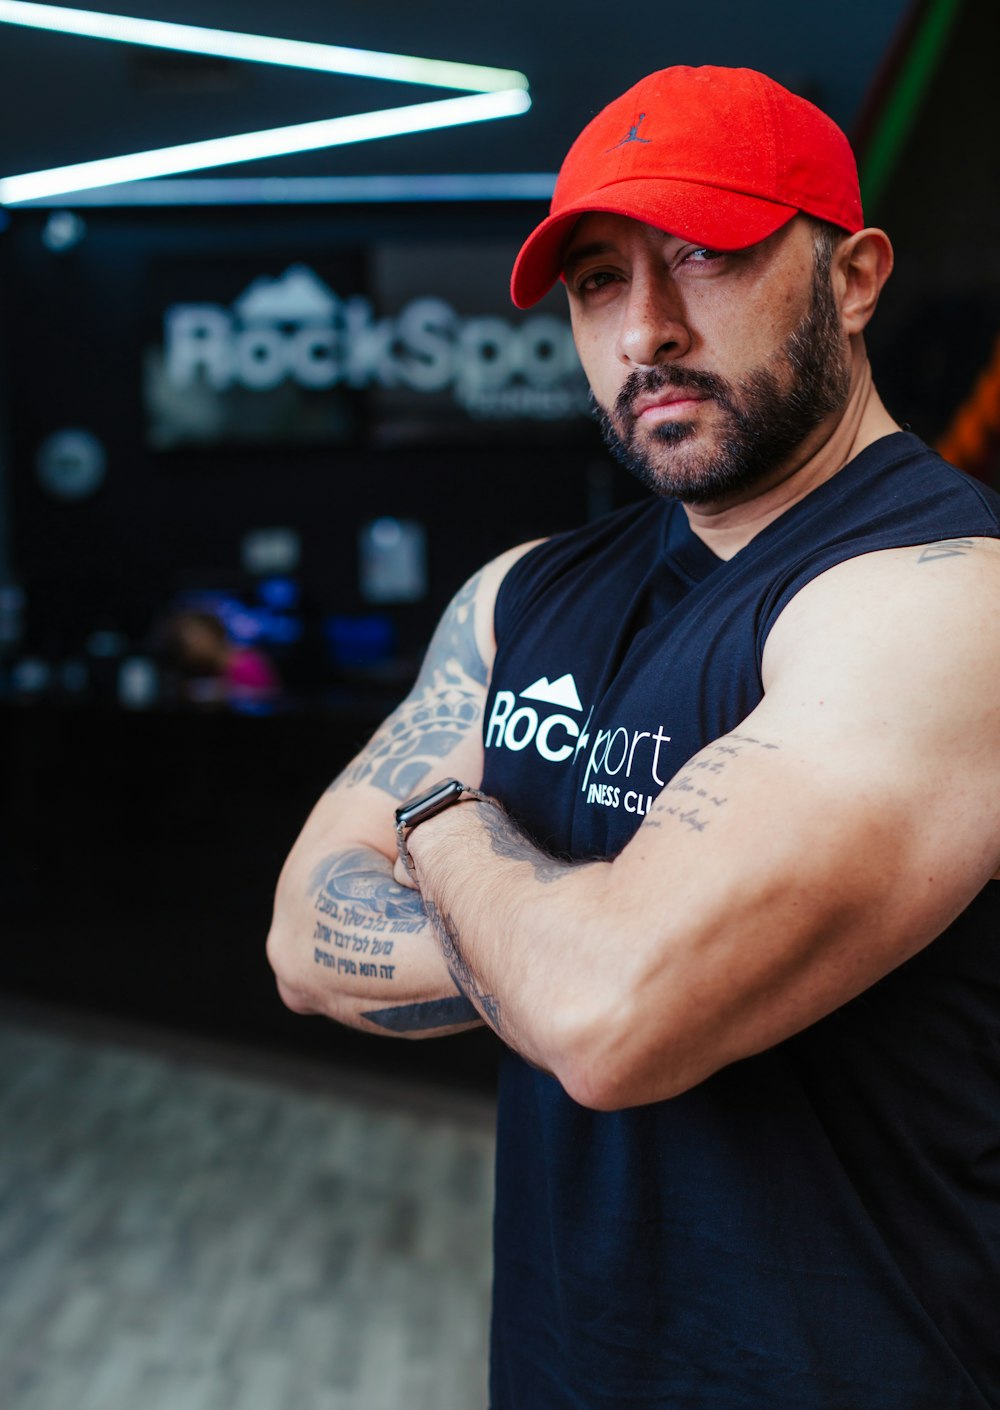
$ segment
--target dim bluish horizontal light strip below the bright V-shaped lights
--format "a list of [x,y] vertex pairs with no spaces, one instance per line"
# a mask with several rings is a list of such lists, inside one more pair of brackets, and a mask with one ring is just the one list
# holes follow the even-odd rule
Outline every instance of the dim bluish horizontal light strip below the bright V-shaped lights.
[[[196,176],[138,180],[41,196],[28,209],[117,206],[316,206],[439,200],[550,200],[554,172],[472,172],[425,176]],[[0,220],[3,213],[0,213]]]

